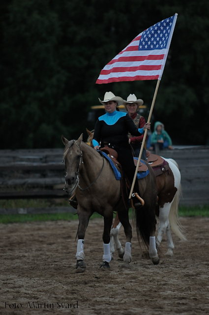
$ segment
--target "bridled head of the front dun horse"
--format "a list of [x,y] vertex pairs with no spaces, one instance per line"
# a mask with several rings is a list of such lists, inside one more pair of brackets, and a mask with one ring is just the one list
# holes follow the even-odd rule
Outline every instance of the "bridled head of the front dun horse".
[[71,195],[72,191],[76,187],[78,181],[78,171],[82,163],[82,150],[80,146],[83,139],[83,133],[77,141],[68,141],[63,135],[61,136],[61,139],[65,145],[63,154],[65,165],[65,191],[68,195]]

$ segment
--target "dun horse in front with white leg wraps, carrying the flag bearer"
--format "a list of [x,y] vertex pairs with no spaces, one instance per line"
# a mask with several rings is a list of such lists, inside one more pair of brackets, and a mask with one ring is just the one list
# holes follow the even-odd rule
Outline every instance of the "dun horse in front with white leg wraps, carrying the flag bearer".
[[[128,219],[128,210],[121,200],[120,183],[108,160],[102,157],[89,145],[82,142],[83,134],[76,140],[68,141],[62,136],[65,145],[63,160],[65,163],[65,190],[69,196],[75,192],[78,201],[78,243],[76,272],[84,272],[84,238],[85,232],[93,212],[97,212],[104,218],[103,262],[102,269],[109,268],[110,254],[110,230],[113,222],[113,211],[118,211],[119,221],[124,227],[126,236],[123,261],[131,261],[132,229]],[[140,211],[135,212],[135,224],[138,237],[147,249],[154,264],[159,263],[159,256],[155,243],[155,204],[157,200],[156,178],[152,168],[148,165],[149,175],[139,180],[139,188],[145,205]]]

